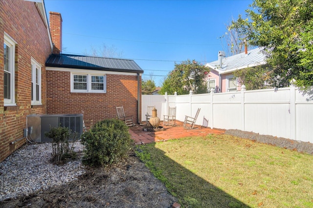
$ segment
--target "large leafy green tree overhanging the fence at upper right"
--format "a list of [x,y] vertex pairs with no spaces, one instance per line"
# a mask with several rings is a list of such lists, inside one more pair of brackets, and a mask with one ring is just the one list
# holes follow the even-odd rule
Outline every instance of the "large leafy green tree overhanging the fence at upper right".
[[271,83],[313,85],[313,0],[254,0],[231,27],[250,44],[264,47],[272,67]]

